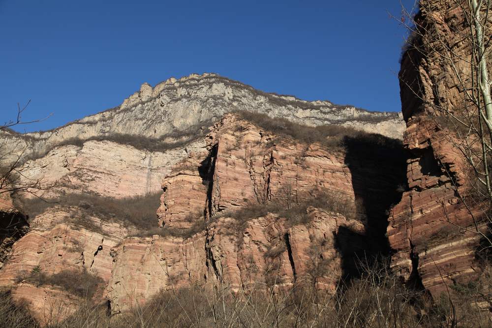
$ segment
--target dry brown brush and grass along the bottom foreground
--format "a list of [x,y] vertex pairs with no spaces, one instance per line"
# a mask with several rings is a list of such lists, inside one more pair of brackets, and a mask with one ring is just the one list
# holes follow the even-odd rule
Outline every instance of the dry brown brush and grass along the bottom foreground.
[[[49,327],[491,327],[489,314],[476,302],[490,300],[490,293],[484,297],[484,287],[492,281],[488,274],[433,300],[425,291],[407,288],[387,268],[366,265],[362,271],[360,278],[340,282],[334,293],[316,290],[310,283],[279,289],[275,282],[280,277],[270,274],[274,280],[270,288],[250,286],[235,292],[224,284],[172,288],[113,316],[106,303],[81,302],[78,311],[63,320],[58,313],[50,314],[58,321]],[[0,298],[0,306],[5,300],[12,304],[8,297]],[[37,327],[22,307],[10,305],[6,313],[6,319],[24,320],[9,327]]]

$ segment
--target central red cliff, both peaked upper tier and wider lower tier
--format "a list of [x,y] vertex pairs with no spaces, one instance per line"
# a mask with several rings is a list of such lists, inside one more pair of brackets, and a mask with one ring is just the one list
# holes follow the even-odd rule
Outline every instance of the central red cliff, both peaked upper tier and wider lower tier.
[[[384,240],[386,227],[377,235],[379,227],[357,216],[358,210],[370,200],[371,213],[377,218],[382,207],[384,215],[387,200],[377,198],[388,194],[388,183],[391,202],[400,181],[395,170],[397,178],[369,182],[378,177],[381,157],[364,163],[364,179],[355,163],[345,164],[355,159],[345,151],[279,137],[236,115],[225,115],[207,136],[206,149],[190,153],[164,179],[157,211],[163,233],[186,231],[200,222],[204,230],[188,238],[125,239],[115,250],[108,287],[112,310],[124,311],[160,289],[193,283],[225,283],[233,290],[309,283],[334,292],[339,280],[353,272],[358,254],[384,248],[375,244],[378,238]],[[392,164],[388,158],[387,165]],[[295,197],[306,197],[317,188],[348,200],[340,209],[345,214],[315,207],[305,209],[300,221],[277,213],[248,214],[251,205],[268,206],[289,197],[294,203]]]

